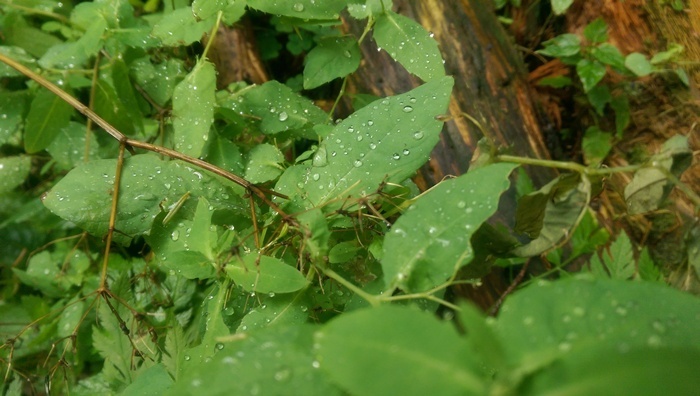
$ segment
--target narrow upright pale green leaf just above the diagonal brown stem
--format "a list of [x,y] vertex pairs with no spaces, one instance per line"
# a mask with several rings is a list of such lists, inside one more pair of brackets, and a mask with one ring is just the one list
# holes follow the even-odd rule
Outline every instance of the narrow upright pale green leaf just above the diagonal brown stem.
[[175,149],[199,157],[209,140],[214,122],[216,70],[202,60],[177,84],[173,92],[173,128]]

